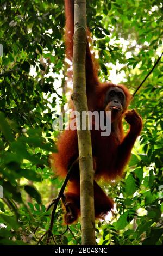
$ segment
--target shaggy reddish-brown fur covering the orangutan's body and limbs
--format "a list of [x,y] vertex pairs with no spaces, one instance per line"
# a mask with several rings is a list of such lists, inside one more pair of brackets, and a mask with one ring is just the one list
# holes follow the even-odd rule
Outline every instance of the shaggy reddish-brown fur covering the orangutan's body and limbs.
[[[73,55],[73,1],[65,0],[66,13],[66,57],[72,60]],[[89,35],[89,32],[88,32]],[[136,111],[128,111],[127,107],[131,100],[128,89],[123,85],[116,86],[111,83],[100,83],[97,77],[97,65],[93,63],[89,45],[86,49],[86,90],[89,110],[104,111],[105,93],[110,87],[119,87],[126,95],[126,105],[123,112],[111,124],[111,134],[108,137],[102,137],[101,131],[91,131],[93,166],[95,169],[95,179],[104,178],[105,181],[122,176],[126,166],[131,149],[137,136],[142,129],[142,120]],[[126,136],[123,134],[122,118],[130,124],[130,129]],[[59,176],[65,177],[71,164],[78,159],[78,141],[77,131],[65,130],[57,142],[58,153],[52,155],[55,172]],[[94,182],[95,191],[95,217],[102,218],[113,207],[113,201],[103,190]],[[68,191],[65,193],[67,205],[71,212],[65,214],[65,223],[70,224],[78,218],[80,214],[80,182],[78,163],[73,166],[73,174],[68,184]],[[72,217],[73,215],[73,217]]]

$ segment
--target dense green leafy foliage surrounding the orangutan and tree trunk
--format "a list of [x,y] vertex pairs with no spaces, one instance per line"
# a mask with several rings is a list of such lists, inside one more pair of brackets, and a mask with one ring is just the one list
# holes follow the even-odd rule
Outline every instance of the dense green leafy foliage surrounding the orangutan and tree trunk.
[[[93,47],[99,54],[101,80],[108,80],[114,64],[116,74],[122,75],[121,83],[134,93],[161,54],[161,1],[87,2],[87,23],[95,38]],[[54,177],[48,159],[49,153],[55,151],[58,135],[52,129],[56,102],[61,107],[65,102],[65,96],[54,87],[55,82],[62,86],[58,79],[65,70],[64,19],[61,0],[0,1],[3,245],[46,243],[46,236],[39,241],[51,218],[51,210],[45,209],[62,184]],[[96,222],[99,245],[161,244],[162,71],[160,61],[131,103],[130,108],[141,114],[144,127],[124,179],[105,184],[106,192],[115,198],[116,210],[110,221]],[[80,223],[66,229],[59,204],[51,243],[80,242]]]

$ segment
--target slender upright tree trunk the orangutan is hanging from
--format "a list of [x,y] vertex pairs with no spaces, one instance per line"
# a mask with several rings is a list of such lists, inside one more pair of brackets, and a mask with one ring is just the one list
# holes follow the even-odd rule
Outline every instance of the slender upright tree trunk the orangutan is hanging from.
[[[85,54],[86,54],[86,0],[74,1],[73,97],[77,127],[82,112],[87,111]],[[82,118],[81,118],[82,121]],[[82,122],[81,122],[82,124]],[[88,126],[87,126],[88,128]],[[77,129],[80,166],[80,204],[82,218],[82,245],[95,245],[95,211],[93,195],[93,161],[90,131]]]

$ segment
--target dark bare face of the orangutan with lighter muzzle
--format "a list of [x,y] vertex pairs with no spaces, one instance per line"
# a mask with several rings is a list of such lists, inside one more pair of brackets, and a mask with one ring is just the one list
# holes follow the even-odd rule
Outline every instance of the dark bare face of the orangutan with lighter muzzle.
[[105,96],[105,109],[107,111],[123,111],[126,103],[126,96],[121,88],[111,87]]

